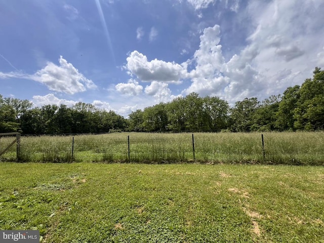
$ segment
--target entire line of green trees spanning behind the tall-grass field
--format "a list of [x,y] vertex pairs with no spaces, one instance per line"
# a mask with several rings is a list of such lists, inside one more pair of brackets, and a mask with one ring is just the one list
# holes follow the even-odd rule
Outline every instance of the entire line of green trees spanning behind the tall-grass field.
[[106,133],[111,131],[296,131],[324,129],[324,71],[281,95],[259,101],[245,98],[230,107],[219,97],[191,93],[168,103],[136,110],[129,118],[78,102],[33,107],[28,100],[0,95],[0,133],[23,134]]

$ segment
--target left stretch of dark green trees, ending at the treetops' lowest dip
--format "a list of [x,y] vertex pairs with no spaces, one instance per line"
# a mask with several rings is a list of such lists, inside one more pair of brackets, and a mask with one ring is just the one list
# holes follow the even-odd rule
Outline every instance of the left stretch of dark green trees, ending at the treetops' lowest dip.
[[127,120],[114,111],[99,110],[82,102],[72,107],[32,107],[28,100],[0,95],[0,132],[23,134],[104,133],[124,130]]

